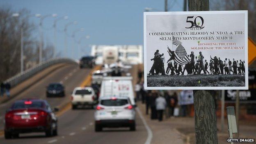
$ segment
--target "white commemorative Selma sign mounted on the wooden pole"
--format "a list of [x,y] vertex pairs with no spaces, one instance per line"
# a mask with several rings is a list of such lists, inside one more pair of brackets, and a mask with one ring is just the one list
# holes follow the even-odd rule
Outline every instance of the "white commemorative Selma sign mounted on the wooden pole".
[[144,12],[145,89],[248,89],[247,11]]

